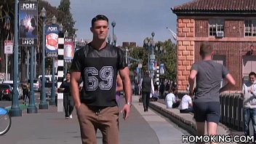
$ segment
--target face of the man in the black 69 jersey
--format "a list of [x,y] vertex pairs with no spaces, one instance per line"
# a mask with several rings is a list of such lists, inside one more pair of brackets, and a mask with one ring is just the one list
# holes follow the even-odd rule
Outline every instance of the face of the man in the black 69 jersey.
[[91,28],[93,38],[98,40],[105,40],[108,36],[108,22],[105,20],[95,21],[94,26]]

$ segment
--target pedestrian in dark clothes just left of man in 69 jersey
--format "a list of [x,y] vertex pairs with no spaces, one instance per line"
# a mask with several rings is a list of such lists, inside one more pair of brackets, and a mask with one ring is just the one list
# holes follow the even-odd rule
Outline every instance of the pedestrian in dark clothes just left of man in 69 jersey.
[[65,119],[72,119],[73,112],[73,98],[71,97],[71,73],[68,72],[65,74],[65,81],[60,85],[60,89],[63,91],[63,105],[65,110]]

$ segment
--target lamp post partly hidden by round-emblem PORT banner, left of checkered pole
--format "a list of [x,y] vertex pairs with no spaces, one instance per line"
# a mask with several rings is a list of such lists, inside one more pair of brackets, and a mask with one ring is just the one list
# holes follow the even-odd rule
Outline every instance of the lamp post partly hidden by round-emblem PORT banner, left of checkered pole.
[[[52,17],[52,25],[57,23],[57,18],[55,16]],[[55,57],[52,57],[52,89],[51,89],[51,100],[49,101],[49,105],[55,105]]]

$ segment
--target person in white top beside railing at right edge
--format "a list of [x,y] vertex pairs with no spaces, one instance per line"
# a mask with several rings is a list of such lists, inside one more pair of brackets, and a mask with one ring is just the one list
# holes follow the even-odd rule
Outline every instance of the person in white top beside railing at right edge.
[[249,73],[249,81],[243,85],[244,135],[249,136],[249,121],[252,120],[253,135],[256,140],[256,73]]

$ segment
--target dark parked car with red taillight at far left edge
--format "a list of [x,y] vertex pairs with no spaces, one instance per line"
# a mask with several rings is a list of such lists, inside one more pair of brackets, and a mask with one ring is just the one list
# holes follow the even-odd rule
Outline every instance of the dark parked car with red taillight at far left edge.
[[0,100],[12,100],[12,87],[9,84],[0,84]]

